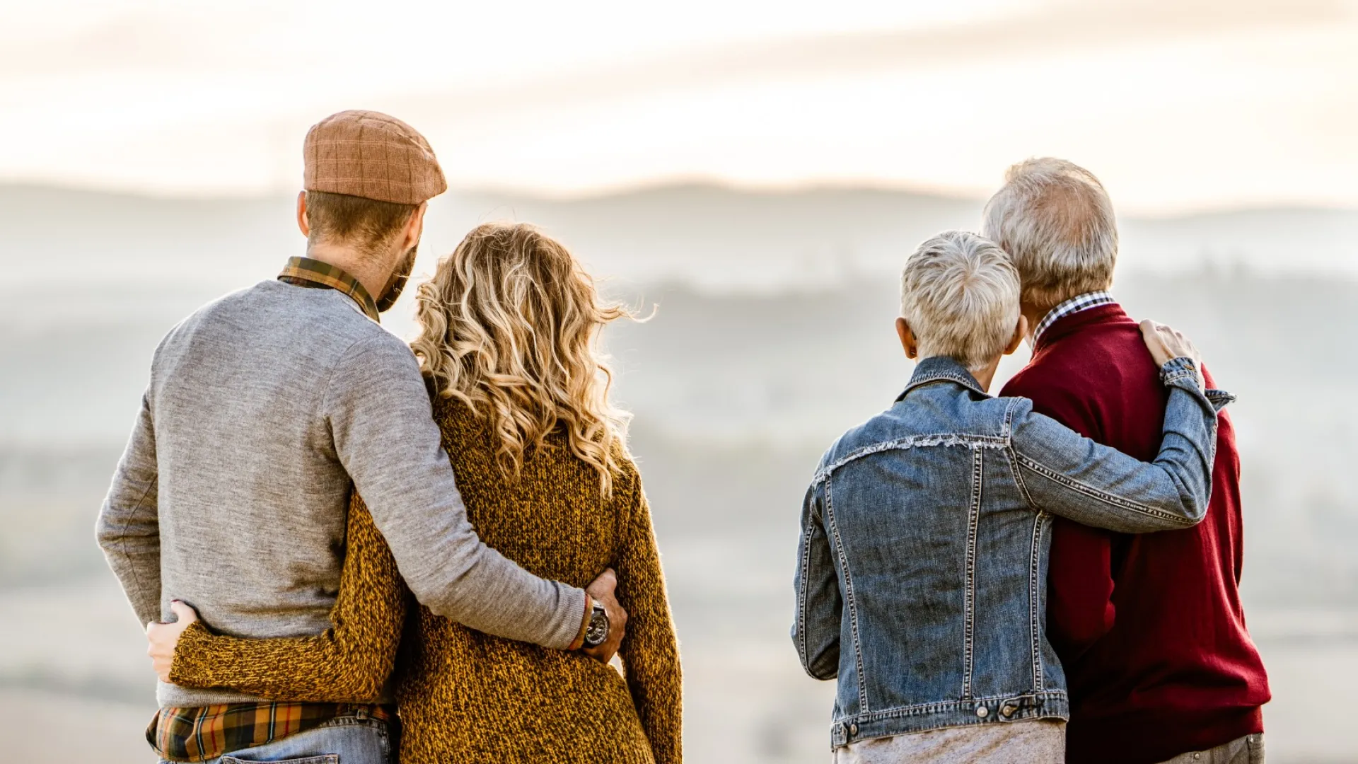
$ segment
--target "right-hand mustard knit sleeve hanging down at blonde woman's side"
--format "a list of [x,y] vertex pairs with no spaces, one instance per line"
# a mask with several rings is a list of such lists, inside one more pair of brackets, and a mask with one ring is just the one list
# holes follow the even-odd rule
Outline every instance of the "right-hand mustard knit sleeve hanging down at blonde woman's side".
[[656,764],[678,764],[683,754],[679,640],[669,614],[650,508],[640,477],[633,476],[630,483],[627,493],[619,496],[627,507],[618,551],[618,602],[627,610],[627,635],[619,653]]

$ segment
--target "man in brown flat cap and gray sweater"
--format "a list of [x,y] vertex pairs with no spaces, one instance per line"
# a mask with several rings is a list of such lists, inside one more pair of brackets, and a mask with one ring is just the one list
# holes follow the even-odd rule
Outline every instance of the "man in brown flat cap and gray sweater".
[[[133,610],[187,625],[191,606],[236,636],[322,633],[357,492],[430,610],[559,650],[580,648],[606,614],[608,639],[588,653],[607,661],[626,620],[611,571],[587,594],[481,542],[416,358],[378,324],[414,266],[428,200],[447,189],[429,143],[386,114],[341,111],[311,128],[304,155],[307,256],[200,309],[156,348],[98,522]],[[172,655],[152,657],[167,678]],[[162,681],[156,695],[147,737],[163,760],[390,756],[386,693],[282,703]]]

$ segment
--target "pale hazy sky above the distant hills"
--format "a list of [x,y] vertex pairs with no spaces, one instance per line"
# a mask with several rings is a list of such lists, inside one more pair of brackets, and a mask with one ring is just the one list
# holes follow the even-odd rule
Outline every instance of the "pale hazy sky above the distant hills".
[[463,188],[979,194],[1054,154],[1130,211],[1358,207],[1358,0],[463,5],[0,0],[0,182],[292,190],[367,107]]

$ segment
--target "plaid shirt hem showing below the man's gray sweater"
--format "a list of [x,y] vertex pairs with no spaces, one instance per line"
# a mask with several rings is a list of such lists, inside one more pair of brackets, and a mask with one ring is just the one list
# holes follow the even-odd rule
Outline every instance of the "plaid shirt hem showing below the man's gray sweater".
[[357,715],[390,722],[386,706],[350,703],[224,703],[162,708],[147,727],[147,742],[170,761],[209,761]]

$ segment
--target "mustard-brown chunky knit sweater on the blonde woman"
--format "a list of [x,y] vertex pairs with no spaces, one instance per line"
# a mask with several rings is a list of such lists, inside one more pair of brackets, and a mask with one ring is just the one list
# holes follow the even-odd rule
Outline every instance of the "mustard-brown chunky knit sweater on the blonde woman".
[[175,650],[171,681],[272,700],[373,701],[395,665],[403,764],[679,763],[679,650],[636,466],[625,459],[604,498],[598,473],[554,434],[511,481],[496,466],[488,421],[444,400],[435,402],[435,419],[467,515],[488,545],[539,576],[580,587],[606,567],[618,571],[618,601],[629,616],[622,673],[414,606],[354,498],[333,628],[257,640],[196,623]]

